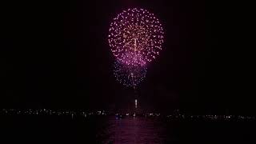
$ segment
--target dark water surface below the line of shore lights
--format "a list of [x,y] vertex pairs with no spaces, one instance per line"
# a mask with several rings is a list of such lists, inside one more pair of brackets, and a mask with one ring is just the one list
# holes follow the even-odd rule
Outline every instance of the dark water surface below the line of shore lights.
[[0,143],[256,143],[255,122],[1,116]]

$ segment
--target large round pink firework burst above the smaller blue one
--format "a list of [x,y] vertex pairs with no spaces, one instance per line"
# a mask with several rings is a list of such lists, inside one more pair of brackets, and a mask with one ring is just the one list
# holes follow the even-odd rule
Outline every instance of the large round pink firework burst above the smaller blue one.
[[110,24],[109,45],[119,61],[145,66],[162,50],[162,24],[147,10],[123,10]]

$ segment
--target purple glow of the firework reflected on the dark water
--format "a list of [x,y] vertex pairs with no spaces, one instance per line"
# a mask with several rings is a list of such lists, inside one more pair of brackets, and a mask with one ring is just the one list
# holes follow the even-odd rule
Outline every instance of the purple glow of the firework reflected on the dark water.
[[106,143],[163,143],[166,138],[162,122],[149,118],[110,118]]

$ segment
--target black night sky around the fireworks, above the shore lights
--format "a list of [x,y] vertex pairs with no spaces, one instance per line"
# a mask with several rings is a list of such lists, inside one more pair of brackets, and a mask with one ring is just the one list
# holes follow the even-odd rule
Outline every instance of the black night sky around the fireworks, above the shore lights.
[[[70,1],[1,4],[1,107],[119,109],[133,91],[115,81],[112,18],[156,14],[163,50],[138,88],[144,110],[254,114],[240,8],[216,1]],[[250,66],[251,67],[251,66]]]

